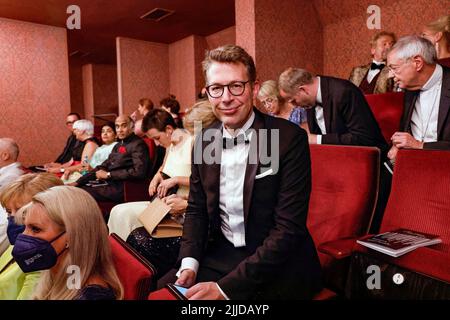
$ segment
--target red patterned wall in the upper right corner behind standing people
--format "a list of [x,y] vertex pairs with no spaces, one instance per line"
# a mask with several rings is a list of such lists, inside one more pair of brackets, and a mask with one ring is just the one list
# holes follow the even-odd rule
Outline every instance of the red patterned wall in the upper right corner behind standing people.
[[370,61],[370,38],[379,30],[366,26],[367,7],[381,8],[381,29],[397,36],[448,14],[448,0],[314,0],[324,28],[324,74],[348,78],[352,68]]

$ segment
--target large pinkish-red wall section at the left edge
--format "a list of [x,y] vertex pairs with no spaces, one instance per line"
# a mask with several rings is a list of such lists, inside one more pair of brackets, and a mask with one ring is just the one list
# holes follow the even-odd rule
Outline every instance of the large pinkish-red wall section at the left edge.
[[0,75],[0,136],[24,165],[53,161],[68,136],[66,30],[0,18]]

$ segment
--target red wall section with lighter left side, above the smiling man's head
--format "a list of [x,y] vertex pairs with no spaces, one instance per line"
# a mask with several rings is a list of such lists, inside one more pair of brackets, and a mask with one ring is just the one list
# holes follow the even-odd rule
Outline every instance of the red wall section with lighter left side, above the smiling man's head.
[[311,1],[237,1],[236,41],[255,58],[261,81],[289,66],[323,69],[322,26]]

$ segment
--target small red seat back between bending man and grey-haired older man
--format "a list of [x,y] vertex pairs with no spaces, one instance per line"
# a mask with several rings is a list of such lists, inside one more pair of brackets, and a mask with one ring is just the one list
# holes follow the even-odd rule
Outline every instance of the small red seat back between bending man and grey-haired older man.
[[368,94],[365,96],[386,141],[399,130],[403,113],[403,92]]

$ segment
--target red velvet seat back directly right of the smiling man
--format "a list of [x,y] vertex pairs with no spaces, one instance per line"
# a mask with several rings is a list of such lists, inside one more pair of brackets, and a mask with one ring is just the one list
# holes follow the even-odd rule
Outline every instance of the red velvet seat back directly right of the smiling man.
[[[368,231],[378,195],[379,150],[311,145],[312,192],[307,226],[316,247]],[[319,252],[326,268],[331,257]]]

